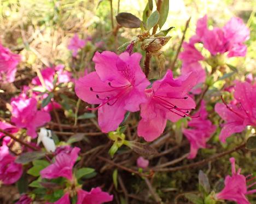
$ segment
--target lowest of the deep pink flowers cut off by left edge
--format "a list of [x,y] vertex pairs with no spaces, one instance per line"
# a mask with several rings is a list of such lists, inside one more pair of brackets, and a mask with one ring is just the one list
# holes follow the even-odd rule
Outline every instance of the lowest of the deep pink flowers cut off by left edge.
[[13,184],[22,175],[22,165],[15,163],[15,157],[9,153],[6,145],[0,147],[0,181]]

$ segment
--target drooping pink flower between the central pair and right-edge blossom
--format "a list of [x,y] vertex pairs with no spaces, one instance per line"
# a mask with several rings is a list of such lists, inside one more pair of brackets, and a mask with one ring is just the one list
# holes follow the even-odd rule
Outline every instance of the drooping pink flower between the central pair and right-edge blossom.
[[206,142],[216,130],[215,125],[207,119],[208,113],[206,111],[205,101],[201,102],[200,110],[195,116],[200,117],[192,118],[192,120],[188,122],[189,129],[182,130],[183,134],[190,142],[190,154],[188,159],[194,159],[199,148],[206,148]]

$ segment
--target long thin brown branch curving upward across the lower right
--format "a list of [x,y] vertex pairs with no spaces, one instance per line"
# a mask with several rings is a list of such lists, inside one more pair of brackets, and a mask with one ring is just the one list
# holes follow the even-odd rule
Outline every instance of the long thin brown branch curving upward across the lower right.
[[242,145],[239,145],[233,149],[230,149],[228,151],[216,154],[210,158],[207,159],[203,159],[201,161],[197,161],[195,163],[192,164],[188,164],[188,165],[184,165],[184,166],[177,166],[177,167],[172,167],[172,168],[165,168],[165,169],[159,169],[159,170],[155,170],[155,171],[161,171],[161,172],[173,172],[173,171],[180,171],[180,170],[184,170],[184,169],[190,169],[190,168],[194,168],[194,167],[199,167],[200,165],[205,165],[210,161],[215,161],[217,159],[220,159],[221,157],[227,155],[227,154],[231,154],[232,152],[236,152],[239,149],[245,148],[246,143],[242,143]]

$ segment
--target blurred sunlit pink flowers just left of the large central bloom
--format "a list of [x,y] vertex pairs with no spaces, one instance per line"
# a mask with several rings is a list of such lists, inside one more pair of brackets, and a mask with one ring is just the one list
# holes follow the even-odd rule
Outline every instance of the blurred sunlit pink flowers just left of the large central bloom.
[[[60,83],[68,83],[72,80],[71,73],[69,71],[64,70],[64,67],[65,66],[63,64],[59,64],[55,67],[47,67],[40,71],[43,76],[46,89],[48,91],[53,91],[53,82],[55,74],[57,74],[56,85],[59,85]],[[32,84],[36,86],[42,86],[42,83],[40,82],[38,76],[32,79]]]

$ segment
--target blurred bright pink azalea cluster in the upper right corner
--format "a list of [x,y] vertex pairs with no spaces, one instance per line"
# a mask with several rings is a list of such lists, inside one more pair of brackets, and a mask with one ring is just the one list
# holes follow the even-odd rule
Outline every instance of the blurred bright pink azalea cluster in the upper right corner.
[[[214,27],[212,30],[207,26],[207,15],[197,21],[196,34],[190,38],[189,43],[183,43],[184,51],[179,54],[182,61],[182,74],[197,71],[199,80],[206,80],[206,71],[202,68],[201,61],[206,61],[214,70],[218,65],[225,63],[225,57],[245,56],[247,47],[244,44],[249,39],[249,29],[242,19],[232,17],[223,28]],[[196,44],[201,43],[210,52],[210,57],[203,56],[196,49]],[[194,94],[199,94],[201,88],[193,89]]]

